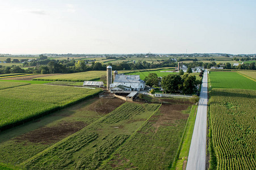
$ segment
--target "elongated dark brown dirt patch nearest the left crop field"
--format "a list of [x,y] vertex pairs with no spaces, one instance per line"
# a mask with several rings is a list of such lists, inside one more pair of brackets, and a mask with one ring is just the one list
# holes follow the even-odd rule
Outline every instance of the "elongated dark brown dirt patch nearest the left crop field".
[[16,137],[16,142],[29,141],[33,143],[50,144],[71,135],[78,130],[84,128],[86,124],[82,121],[77,122],[61,122],[52,127],[42,127],[26,134]]

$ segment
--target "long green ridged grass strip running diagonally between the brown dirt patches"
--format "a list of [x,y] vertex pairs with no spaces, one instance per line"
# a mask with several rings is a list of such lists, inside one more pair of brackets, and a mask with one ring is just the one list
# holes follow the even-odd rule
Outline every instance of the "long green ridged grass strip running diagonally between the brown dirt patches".
[[[110,114],[33,156],[22,165],[33,169],[99,168],[158,107],[160,104],[124,103]],[[126,117],[129,108],[132,109]]]

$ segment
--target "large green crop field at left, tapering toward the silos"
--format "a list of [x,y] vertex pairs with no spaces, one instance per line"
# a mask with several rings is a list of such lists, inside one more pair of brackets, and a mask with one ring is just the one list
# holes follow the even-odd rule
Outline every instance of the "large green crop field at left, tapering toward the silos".
[[0,91],[0,128],[62,108],[100,92],[100,88],[30,84]]

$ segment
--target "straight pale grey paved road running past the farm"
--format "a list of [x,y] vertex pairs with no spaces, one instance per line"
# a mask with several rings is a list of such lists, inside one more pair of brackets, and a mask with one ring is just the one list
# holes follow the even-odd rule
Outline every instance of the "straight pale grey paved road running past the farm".
[[204,71],[198,112],[188,154],[187,170],[205,169],[207,128],[207,71]]

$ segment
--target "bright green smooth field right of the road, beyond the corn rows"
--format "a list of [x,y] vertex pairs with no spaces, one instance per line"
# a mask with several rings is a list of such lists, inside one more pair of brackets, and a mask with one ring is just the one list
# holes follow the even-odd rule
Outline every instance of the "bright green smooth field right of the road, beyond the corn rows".
[[236,72],[211,71],[209,74],[209,87],[212,88],[238,88],[256,90],[256,82]]

